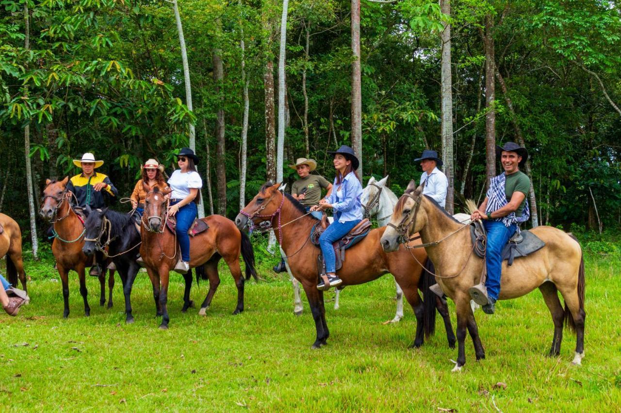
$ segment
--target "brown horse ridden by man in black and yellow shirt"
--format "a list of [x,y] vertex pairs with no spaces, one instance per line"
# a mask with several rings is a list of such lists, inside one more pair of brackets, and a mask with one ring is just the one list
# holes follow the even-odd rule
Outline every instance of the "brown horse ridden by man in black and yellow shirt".
[[[84,246],[84,234],[86,229],[84,223],[69,205],[67,198],[66,184],[69,177],[61,181],[47,179],[43,189],[43,199],[39,215],[43,220],[54,224],[54,241],[52,243],[52,253],[56,259],[58,274],[63,283],[63,299],[65,301],[65,311],[63,317],[69,316],[69,271],[74,270],[78,273],[79,292],[84,299],[84,315],[91,314],[88,305],[86,290],[86,279],[84,269],[93,263],[92,257],[86,257],[82,252]],[[114,286],[114,272],[110,272],[109,288],[110,300],[108,307],[112,306],[112,286]],[[99,275],[101,285],[101,295],[99,305],[106,303],[106,270]]]

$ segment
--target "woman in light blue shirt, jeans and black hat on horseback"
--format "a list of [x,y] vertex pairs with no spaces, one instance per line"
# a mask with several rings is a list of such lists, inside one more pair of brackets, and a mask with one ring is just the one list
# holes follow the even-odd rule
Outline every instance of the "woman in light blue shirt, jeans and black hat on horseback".
[[321,200],[319,205],[311,207],[311,211],[323,211],[328,208],[334,211],[334,222],[319,237],[319,245],[325,260],[325,275],[322,275],[317,288],[322,291],[342,283],[335,270],[336,256],[332,242],[347,235],[363,218],[363,208],[360,204],[362,185],[356,174],[360,161],[353,149],[347,145],[329,154],[334,155],[334,167],[337,169],[332,193]]

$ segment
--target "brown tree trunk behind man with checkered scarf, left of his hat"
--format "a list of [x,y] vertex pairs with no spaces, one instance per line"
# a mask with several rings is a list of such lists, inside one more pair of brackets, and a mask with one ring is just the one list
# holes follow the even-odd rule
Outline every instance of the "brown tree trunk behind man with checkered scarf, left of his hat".
[[496,176],[496,111],[494,99],[496,97],[496,82],[494,81],[494,20],[492,16],[485,16],[485,34],[483,43],[485,47],[485,153],[486,153],[486,188],[489,188],[490,180]]

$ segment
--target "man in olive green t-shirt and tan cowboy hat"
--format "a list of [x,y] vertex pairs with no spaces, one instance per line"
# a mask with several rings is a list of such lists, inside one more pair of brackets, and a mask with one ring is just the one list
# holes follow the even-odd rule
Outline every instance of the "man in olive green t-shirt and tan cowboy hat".
[[[299,176],[299,179],[291,185],[291,195],[304,205],[307,212],[313,205],[319,205],[322,188],[327,190],[326,196],[332,192],[332,184],[329,180],[321,175],[311,174],[317,169],[317,162],[314,159],[297,158],[296,163],[289,167],[295,169]],[[312,211],[311,215],[318,220],[321,219],[320,211]],[[285,270],[284,259],[274,267],[274,272],[277,273]]]

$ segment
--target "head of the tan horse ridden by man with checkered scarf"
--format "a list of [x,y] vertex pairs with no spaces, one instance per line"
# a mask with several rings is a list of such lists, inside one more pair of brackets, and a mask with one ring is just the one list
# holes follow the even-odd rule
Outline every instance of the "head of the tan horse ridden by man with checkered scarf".
[[401,195],[397,205],[392,211],[392,217],[388,228],[380,239],[382,247],[386,252],[397,251],[399,242],[404,241],[412,234],[420,232],[427,223],[427,216],[424,208],[420,208],[423,201],[423,187],[416,186],[414,180],[410,180],[406,192]]

